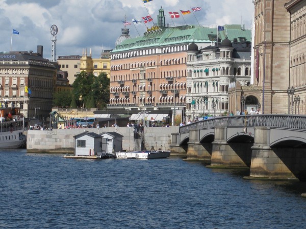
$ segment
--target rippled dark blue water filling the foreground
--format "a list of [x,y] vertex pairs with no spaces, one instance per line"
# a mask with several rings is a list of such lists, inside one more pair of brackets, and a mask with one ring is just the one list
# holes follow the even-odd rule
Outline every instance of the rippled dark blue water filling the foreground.
[[0,151],[0,228],[305,228],[306,183],[171,157]]

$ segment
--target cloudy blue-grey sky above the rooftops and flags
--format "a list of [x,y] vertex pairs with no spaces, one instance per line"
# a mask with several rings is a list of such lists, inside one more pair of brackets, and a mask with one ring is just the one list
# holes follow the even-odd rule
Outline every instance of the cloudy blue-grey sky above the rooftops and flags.
[[[43,56],[51,60],[50,27],[58,27],[56,55],[82,55],[91,48],[92,57],[99,58],[102,50],[113,49],[121,35],[122,21],[131,22],[130,36],[142,36],[152,22],[134,25],[150,15],[157,22],[158,10],[164,9],[166,23],[175,25],[200,24],[216,26],[244,24],[251,28],[254,5],[251,0],[0,0],[0,52],[37,51],[43,46]],[[202,10],[174,18],[168,12]],[[13,34],[12,29],[19,32]]]

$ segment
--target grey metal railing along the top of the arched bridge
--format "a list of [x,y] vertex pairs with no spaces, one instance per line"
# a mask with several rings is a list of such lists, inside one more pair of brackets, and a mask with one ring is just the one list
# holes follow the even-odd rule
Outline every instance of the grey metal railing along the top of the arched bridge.
[[190,129],[206,129],[215,126],[265,126],[286,129],[306,130],[306,116],[296,115],[247,115],[227,116],[194,122],[180,127],[180,133]]

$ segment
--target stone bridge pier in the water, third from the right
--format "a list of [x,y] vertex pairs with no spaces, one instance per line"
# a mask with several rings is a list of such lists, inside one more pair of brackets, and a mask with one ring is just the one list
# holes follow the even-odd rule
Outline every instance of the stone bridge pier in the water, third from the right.
[[189,131],[187,160],[211,160],[211,143],[201,144],[199,142],[200,130]]

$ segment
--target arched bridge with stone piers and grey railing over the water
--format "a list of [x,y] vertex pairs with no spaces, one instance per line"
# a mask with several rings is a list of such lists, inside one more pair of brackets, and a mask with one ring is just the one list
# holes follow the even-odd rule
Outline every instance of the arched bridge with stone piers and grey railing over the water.
[[172,134],[171,153],[210,167],[249,167],[250,179],[306,180],[306,116],[249,115],[195,122]]

